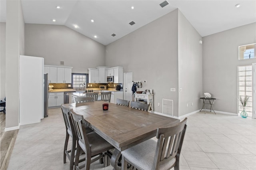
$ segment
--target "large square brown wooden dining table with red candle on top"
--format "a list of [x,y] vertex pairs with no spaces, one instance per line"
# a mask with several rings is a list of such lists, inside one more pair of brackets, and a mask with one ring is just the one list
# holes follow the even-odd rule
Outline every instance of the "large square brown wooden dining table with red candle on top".
[[65,107],[83,115],[86,125],[116,148],[110,161],[116,170],[121,168],[118,165],[121,151],[156,136],[158,127],[180,122],[179,119],[114,103],[108,103],[108,110],[104,111],[104,103],[108,102],[69,103]]

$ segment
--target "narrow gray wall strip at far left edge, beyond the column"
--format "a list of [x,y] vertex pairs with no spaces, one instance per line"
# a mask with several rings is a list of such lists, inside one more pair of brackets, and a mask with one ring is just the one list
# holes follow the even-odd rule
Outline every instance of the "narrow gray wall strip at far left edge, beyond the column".
[[0,100],[5,97],[5,80],[6,80],[6,54],[5,54],[5,36],[6,23],[0,22]]

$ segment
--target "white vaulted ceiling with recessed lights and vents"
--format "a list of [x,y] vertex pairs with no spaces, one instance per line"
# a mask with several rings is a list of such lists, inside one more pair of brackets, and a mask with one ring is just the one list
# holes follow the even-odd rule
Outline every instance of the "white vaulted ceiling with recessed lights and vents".
[[[167,0],[163,8],[164,0],[21,1],[25,23],[64,25],[103,45],[177,8],[202,37],[256,22],[256,0]],[[6,0],[0,0],[0,22],[6,22]]]

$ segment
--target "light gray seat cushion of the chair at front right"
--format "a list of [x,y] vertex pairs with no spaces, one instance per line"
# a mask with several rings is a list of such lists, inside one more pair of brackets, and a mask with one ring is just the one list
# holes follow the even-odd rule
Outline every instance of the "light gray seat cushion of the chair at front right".
[[[156,140],[149,139],[122,151],[121,154],[128,160],[130,164],[136,165],[144,170],[151,170],[153,169],[156,144]],[[175,162],[176,158],[174,157],[165,164],[162,164],[159,167],[159,170],[166,170],[172,167]]]

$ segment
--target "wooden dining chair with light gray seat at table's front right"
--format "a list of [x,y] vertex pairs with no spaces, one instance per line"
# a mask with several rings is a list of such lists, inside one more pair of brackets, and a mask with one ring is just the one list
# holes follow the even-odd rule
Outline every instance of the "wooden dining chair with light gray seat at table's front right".
[[122,151],[121,169],[127,170],[129,163],[138,170],[179,170],[186,122],[187,118],[178,125],[158,128],[157,141],[151,138]]

